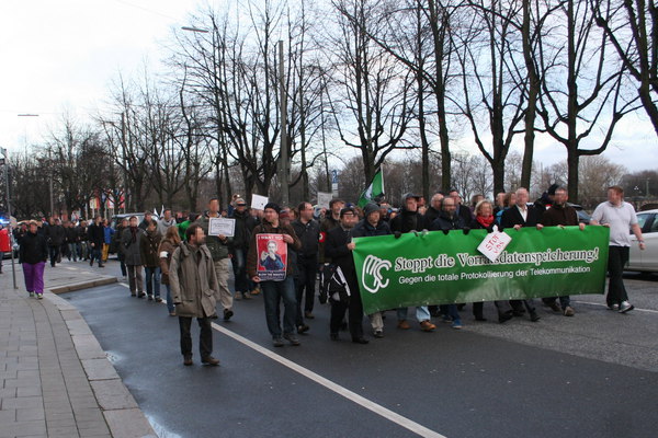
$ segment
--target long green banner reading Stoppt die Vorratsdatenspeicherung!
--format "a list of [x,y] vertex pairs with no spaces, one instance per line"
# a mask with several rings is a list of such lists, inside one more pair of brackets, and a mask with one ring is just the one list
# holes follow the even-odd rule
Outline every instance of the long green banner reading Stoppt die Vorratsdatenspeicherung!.
[[365,313],[399,307],[603,293],[610,230],[506,230],[490,262],[477,251],[486,230],[356,238],[354,265]]

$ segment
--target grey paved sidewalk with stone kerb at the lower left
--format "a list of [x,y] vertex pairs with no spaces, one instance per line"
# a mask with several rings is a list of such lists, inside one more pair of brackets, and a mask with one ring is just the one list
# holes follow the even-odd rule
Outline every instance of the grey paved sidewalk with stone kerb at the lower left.
[[9,261],[0,275],[0,438],[156,437],[78,310],[53,293],[116,277],[86,262],[47,264],[37,300],[15,268],[18,289]]

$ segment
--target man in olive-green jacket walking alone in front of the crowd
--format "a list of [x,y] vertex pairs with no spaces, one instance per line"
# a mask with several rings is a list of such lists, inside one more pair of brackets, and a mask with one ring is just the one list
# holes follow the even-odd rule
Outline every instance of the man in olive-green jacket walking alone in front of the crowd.
[[213,354],[213,328],[211,319],[216,318],[219,289],[211,251],[204,244],[205,233],[200,224],[193,223],[185,230],[186,242],[173,252],[169,266],[171,297],[175,304],[181,332],[183,364],[192,365],[192,336],[190,326],[196,318],[201,334],[198,349],[202,364],[219,365]]

